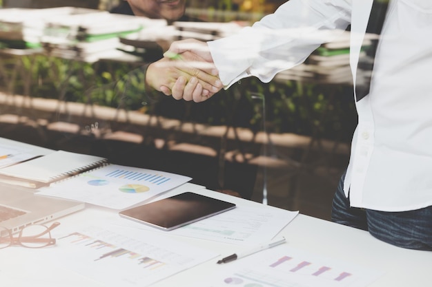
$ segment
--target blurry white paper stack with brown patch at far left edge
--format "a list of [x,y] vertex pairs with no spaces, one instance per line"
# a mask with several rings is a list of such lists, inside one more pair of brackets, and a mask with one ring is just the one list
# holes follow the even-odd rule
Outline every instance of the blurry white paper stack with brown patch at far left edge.
[[0,10],[0,42],[2,47],[41,47],[46,19],[68,14],[84,14],[90,9],[61,7],[46,9],[8,8]]

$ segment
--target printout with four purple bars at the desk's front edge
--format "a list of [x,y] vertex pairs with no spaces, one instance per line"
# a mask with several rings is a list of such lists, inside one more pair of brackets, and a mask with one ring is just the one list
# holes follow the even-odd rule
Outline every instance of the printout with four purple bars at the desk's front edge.
[[[379,277],[375,270],[277,246],[215,270],[212,287],[363,287]],[[216,273],[217,272],[217,273]],[[193,287],[210,286],[199,282]]]

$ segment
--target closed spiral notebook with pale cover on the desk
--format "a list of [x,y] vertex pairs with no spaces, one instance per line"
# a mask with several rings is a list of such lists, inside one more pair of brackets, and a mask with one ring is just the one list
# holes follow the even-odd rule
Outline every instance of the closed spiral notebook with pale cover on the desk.
[[[46,156],[41,156],[26,162],[11,165],[0,169],[0,181],[17,183],[28,180],[29,187],[35,182],[49,184],[64,178],[75,176],[84,171],[95,169],[107,162],[106,158],[90,156],[69,151],[55,151]],[[8,177],[8,178],[5,178]],[[2,180],[3,179],[3,180]],[[23,185],[23,184],[19,184]]]

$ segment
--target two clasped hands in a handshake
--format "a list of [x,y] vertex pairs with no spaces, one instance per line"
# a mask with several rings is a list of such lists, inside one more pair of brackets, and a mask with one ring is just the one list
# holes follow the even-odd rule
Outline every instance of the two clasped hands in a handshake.
[[199,103],[222,89],[218,74],[207,43],[188,39],[172,43],[163,59],[148,66],[146,85]]

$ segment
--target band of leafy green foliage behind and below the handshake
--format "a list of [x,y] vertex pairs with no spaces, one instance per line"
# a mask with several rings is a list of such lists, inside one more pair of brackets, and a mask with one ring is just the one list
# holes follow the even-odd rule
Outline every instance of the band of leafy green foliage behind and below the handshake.
[[[351,140],[357,123],[352,87],[296,81],[261,83],[245,78],[203,103],[188,103],[155,95],[144,97],[144,72],[120,62],[84,63],[46,56],[22,58],[30,74],[30,95],[78,103],[152,113],[207,125],[233,125],[254,131],[315,135]],[[135,70],[134,76],[122,81]],[[26,93],[25,76],[17,78],[15,92]],[[264,110],[265,109],[265,110]],[[265,118],[264,118],[265,117]]]

